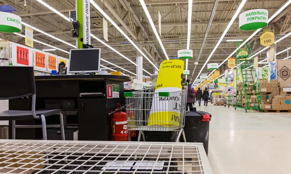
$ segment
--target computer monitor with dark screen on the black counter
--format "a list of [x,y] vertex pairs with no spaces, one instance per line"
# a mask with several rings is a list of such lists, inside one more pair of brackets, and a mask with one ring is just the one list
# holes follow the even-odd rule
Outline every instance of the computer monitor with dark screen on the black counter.
[[96,73],[100,70],[101,48],[71,49],[69,73]]

